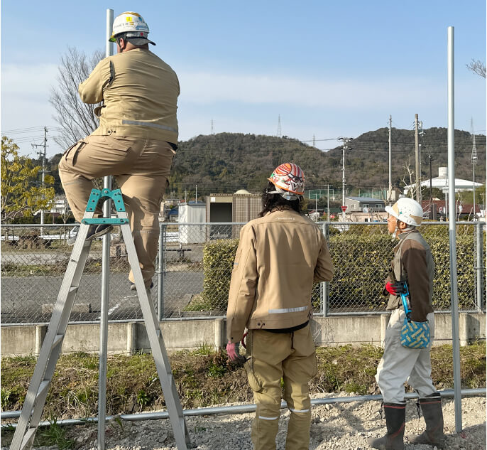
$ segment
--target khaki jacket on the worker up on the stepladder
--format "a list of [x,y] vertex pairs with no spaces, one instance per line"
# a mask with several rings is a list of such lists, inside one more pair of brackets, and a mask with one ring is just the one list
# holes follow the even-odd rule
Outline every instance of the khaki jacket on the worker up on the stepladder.
[[134,48],[101,60],[78,87],[81,100],[104,102],[94,135],[128,136],[177,144],[177,75],[149,50]]

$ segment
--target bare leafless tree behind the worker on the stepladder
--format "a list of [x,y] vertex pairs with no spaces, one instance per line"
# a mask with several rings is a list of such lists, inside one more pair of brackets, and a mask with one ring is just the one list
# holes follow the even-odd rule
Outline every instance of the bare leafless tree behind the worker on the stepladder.
[[87,79],[102,58],[102,50],[97,50],[88,57],[75,47],[68,47],[67,53],[61,56],[56,78],[58,87],[51,88],[49,102],[56,111],[55,121],[62,129],[60,136],[54,138],[62,149],[67,149],[98,127],[98,117],[93,111],[94,107],[101,104],[83,103],[78,95],[78,85]]

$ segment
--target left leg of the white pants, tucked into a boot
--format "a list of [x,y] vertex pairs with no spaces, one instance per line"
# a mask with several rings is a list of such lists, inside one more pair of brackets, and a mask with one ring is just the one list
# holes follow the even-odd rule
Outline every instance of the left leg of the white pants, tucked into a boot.
[[404,311],[395,309],[385,331],[384,354],[376,374],[384,403],[403,402],[404,382],[409,377],[421,351],[405,348],[400,344],[400,331],[404,318]]

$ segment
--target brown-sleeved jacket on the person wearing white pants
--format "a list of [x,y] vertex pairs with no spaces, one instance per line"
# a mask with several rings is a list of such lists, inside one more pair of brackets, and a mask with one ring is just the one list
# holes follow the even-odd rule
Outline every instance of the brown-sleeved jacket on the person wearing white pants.
[[[419,231],[400,233],[400,242],[394,247],[391,266],[398,281],[407,282],[410,293],[411,319],[426,321],[433,312],[434,260],[429,245]],[[391,277],[385,282],[391,281]],[[400,296],[390,294],[387,309],[403,307]]]

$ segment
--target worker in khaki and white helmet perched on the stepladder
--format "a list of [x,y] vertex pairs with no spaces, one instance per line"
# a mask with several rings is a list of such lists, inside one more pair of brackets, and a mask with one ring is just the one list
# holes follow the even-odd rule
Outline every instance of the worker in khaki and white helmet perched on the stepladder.
[[[114,20],[117,54],[104,58],[78,92],[94,110],[99,127],[65,151],[59,164],[62,187],[76,220],[81,221],[93,178],[115,176],[131,222],[138,261],[147,288],[152,285],[158,251],[158,214],[177,149],[177,75],[149,50],[149,28],[140,14]],[[95,217],[102,217],[98,208]],[[88,239],[110,225],[91,225]],[[132,273],[131,289],[135,289]]]

